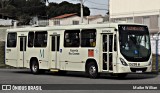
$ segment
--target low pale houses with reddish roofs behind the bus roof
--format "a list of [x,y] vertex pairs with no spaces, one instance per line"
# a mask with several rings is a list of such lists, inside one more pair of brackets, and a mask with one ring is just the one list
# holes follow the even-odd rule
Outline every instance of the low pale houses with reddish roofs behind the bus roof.
[[[101,15],[87,16],[83,18],[83,23],[97,24],[102,23],[103,17]],[[49,19],[49,25],[78,25],[81,23],[81,17],[77,16],[77,13],[64,14]]]

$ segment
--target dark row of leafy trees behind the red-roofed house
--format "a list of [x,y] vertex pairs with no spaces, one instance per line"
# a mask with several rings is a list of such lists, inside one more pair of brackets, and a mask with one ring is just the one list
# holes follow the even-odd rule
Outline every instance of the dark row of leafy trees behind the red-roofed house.
[[[27,25],[31,17],[52,18],[55,16],[77,13],[80,16],[80,4],[72,4],[67,1],[50,3],[46,6],[48,0],[0,0],[0,13],[11,16],[19,20],[20,24]],[[88,7],[84,7],[84,16],[90,15]]]

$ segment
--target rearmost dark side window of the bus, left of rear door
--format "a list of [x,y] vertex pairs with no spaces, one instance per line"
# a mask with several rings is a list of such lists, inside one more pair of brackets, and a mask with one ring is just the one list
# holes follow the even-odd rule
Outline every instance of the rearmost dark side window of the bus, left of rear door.
[[8,33],[7,47],[16,47],[16,45],[17,45],[17,33]]

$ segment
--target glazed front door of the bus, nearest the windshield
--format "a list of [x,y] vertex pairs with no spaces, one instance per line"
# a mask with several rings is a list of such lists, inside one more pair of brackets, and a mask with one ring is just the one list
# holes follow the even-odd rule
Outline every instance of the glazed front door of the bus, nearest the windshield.
[[103,71],[113,71],[113,34],[102,34]]

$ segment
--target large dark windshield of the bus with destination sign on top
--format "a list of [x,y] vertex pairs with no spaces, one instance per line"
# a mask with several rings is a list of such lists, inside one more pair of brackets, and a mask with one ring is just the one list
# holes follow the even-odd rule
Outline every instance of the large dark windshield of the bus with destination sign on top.
[[131,62],[148,61],[151,54],[149,31],[146,26],[119,26],[121,54]]

